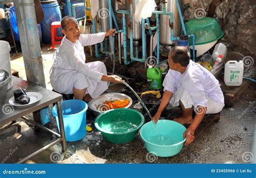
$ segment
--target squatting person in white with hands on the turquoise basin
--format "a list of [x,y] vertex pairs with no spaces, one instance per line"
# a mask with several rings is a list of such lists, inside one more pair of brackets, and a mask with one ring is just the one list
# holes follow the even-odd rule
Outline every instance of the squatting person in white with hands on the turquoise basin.
[[[180,105],[183,115],[174,121],[190,124],[184,132],[184,138],[187,139],[185,145],[189,145],[204,115],[219,113],[223,109],[224,95],[213,74],[190,60],[187,47],[173,47],[169,52],[168,63],[170,70],[163,82],[164,95],[153,120],[157,123],[169,102],[174,107]],[[194,118],[193,110],[196,112]]]

